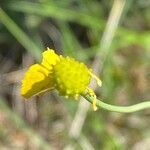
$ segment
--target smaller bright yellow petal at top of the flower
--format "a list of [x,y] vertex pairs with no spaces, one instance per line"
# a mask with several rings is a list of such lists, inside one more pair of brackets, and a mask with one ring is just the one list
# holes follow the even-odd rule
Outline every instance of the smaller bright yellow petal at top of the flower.
[[52,70],[53,65],[59,61],[59,56],[54,52],[54,50],[47,48],[46,51],[43,52],[43,60],[42,65],[46,67],[49,71]]

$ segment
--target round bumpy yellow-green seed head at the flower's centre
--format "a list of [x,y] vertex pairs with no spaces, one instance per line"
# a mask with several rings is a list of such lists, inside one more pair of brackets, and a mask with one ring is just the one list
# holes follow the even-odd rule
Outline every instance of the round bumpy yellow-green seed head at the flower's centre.
[[56,89],[60,95],[78,97],[90,82],[91,75],[88,68],[73,58],[60,57],[54,66]]

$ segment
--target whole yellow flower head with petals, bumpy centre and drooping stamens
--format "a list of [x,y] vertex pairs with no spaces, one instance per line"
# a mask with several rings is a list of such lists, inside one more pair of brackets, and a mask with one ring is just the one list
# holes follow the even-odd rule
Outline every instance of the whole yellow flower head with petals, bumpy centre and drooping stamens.
[[30,98],[41,92],[57,89],[60,95],[78,99],[80,95],[87,93],[95,97],[93,108],[96,110],[96,96],[88,88],[91,77],[101,85],[101,80],[84,63],[57,55],[48,48],[43,52],[41,64],[34,64],[27,70],[22,80],[21,95]]

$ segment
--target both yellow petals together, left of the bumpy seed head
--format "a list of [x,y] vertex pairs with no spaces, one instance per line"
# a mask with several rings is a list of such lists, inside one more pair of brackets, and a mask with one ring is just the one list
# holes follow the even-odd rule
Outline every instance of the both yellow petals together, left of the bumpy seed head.
[[21,95],[30,98],[45,90],[54,89],[53,65],[59,61],[59,56],[51,49],[43,52],[41,64],[32,65],[22,80]]

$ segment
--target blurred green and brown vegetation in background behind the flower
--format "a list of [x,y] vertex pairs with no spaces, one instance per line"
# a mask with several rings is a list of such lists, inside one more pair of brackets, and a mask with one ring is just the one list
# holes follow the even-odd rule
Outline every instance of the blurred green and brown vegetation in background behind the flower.
[[[30,101],[20,96],[24,71],[46,47],[91,67],[112,5],[110,0],[0,1],[0,149],[149,149],[150,110],[124,115],[89,109],[74,140],[68,132],[77,101],[55,91]],[[96,94],[117,105],[149,100],[149,0],[126,0],[108,52]]]

